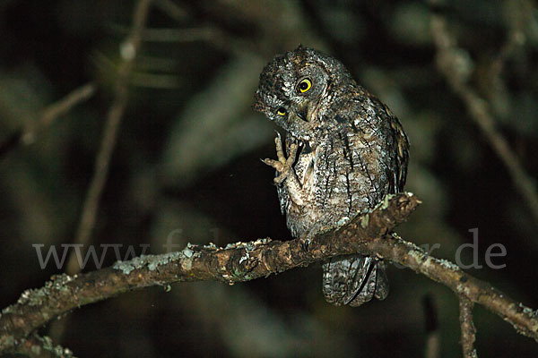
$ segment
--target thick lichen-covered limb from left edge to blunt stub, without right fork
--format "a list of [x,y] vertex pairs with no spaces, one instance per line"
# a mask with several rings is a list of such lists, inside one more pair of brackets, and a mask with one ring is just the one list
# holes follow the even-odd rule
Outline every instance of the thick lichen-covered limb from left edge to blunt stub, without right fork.
[[233,284],[365,250],[365,243],[403,222],[419,203],[412,194],[392,195],[367,216],[318,236],[309,251],[301,249],[299,240],[259,239],[225,248],[189,244],[183,251],[143,255],[82,275],[52,277],[45,286],[22,293],[17,303],[2,311],[0,353],[13,350],[22,338],[58,315],[126,291],[195,280]]

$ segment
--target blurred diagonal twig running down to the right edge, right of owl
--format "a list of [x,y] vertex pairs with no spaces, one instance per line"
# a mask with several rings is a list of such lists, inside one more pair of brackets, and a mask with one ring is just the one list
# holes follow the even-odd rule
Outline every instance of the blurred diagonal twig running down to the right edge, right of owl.
[[462,65],[464,59],[461,49],[456,46],[456,38],[447,31],[445,18],[438,14],[431,15],[430,30],[437,47],[438,71],[443,73],[452,90],[463,99],[474,123],[478,125],[491,147],[495,150],[523,200],[526,201],[534,221],[538,223],[538,192],[534,180],[525,172],[516,154],[510,149],[508,141],[496,127],[488,103],[482,99],[468,84],[467,70]]

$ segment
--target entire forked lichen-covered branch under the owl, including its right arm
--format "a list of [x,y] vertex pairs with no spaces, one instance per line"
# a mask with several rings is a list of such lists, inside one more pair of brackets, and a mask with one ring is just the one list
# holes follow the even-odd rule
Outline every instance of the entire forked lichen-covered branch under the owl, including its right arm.
[[464,273],[447,260],[431,257],[413,243],[390,233],[419,205],[410,193],[389,196],[377,209],[338,230],[319,234],[302,249],[299,239],[259,239],[226,248],[187,245],[183,251],[144,255],[87,274],[53,277],[44,287],[24,292],[0,316],[0,353],[13,350],[17,339],[82,305],[147,286],[182,281],[219,280],[230,285],[267,277],[343,254],[360,252],[392,260],[452,289],[459,298],[482,304],[517,332],[538,342],[538,312]]

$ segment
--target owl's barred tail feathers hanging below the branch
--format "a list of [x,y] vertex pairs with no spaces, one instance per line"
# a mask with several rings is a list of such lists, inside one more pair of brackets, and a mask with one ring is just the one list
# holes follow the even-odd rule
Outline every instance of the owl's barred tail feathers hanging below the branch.
[[329,303],[352,307],[373,297],[384,300],[388,295],[385,263],[360,254],[327,260],[323,264],[323,293]]

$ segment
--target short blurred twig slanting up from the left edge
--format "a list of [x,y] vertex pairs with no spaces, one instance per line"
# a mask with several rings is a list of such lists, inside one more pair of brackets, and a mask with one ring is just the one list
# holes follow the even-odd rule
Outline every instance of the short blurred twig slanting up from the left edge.
[[0,144],[0,158],[9,151],[15,149],[19,144],[29,145],[36,141],[39,132],[53,124],[56,119],[68,113],[73,107],[91,98],[95,93],[95,85],[86,83],[82,87],[72,91],[56,103],[46,107],[37,121],[32,121],[24,129],[14,132],[7,140]]

